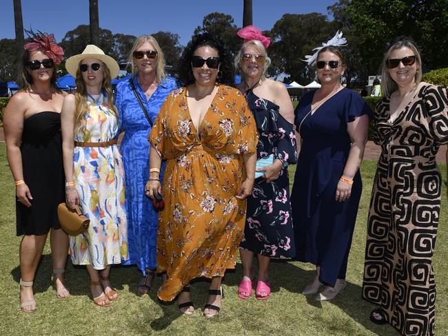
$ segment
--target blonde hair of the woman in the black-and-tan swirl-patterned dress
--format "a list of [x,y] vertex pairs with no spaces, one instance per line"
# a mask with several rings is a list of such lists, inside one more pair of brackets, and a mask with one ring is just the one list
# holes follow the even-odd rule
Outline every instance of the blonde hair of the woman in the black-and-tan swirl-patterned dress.
[[416,62],[418,63],[418,69],[416,71],[416,76],[414,76],[414,81],[416,82],[416,85],[422,81],[422,59],[420,57],[420,52],[418,52],[414,41],[408,37],[400,38],[396,43],[391,45],[389,50],[387,50],[383,57],[383,61],[381,62],[381,92],[383,92],[383,95],[385,96],[390,96],[392,92],[398,89],[398,85],[389,74],[389,66],[387,65],[387,61],[394,50],[401,48],[409,48],[412,52],[414,52]]

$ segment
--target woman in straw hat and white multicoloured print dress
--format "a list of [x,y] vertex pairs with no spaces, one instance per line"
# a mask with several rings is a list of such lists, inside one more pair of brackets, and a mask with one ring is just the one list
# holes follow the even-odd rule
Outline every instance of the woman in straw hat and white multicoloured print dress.
[[61,112],[66,198],[68,207],[79,204],[90,218],[84,233],[70,236],[72,263],[87,266],[94,303],[108,306],[118,297],[109,283],[110,265],[128,260],[118,112],[110,89],[119,65],[96,45],[88,45],[65,67],[77,84]]

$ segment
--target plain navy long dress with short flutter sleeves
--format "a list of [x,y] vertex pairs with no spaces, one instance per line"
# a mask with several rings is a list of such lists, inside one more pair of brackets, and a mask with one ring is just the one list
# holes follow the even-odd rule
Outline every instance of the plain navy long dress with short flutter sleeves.
[[320,266],[320,282],[333,287],[345,279],[363,189],[358,170],[350,198],[336,201],[351,147],[347,123],[372,112],[359,94],[343,89],[311,114],[314,93],[305,94],[295,111],[302,138],[291,196],[296,259]]

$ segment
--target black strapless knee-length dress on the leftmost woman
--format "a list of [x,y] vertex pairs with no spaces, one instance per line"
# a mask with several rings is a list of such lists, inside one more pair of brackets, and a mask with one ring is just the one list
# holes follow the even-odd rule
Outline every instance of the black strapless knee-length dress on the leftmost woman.
[[60,228],[57,206],[65,202],[61,115],[45,111],[24,120],[20,149],[32,205],[16,202],[17,235],[45,235]]

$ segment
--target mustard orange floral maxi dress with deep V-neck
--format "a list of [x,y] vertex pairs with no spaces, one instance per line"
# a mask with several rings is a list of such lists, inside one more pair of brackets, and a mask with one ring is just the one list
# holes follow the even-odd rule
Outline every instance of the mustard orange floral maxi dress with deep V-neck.
[[258,142],[241,92],[220,85],[198,130],[186,92],[171,92],[149,137],[167,160],[157,236],[157,269],[168,278],[158,293],[164,301],[196,277],[234,269],[245,225],[246,201],[235,198],[245,179],[242,154],[254,153]]

